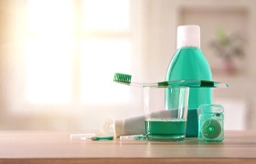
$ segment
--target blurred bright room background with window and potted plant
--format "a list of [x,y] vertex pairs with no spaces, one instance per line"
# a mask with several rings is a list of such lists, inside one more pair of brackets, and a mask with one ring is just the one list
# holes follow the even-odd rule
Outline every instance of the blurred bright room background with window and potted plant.
[[144,115],[143,90],[165,80],[176,27],[199,25],[225,129],[256,129],[256,1],[1,0],[0,130],[98,130]]

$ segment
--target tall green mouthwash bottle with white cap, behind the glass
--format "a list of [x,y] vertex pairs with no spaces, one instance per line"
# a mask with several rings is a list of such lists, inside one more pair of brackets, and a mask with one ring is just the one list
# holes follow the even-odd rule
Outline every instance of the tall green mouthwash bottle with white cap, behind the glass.
[[[178,26],[176,54],[173,56],[166,73],[165,80],[212,80],[211,70],[206,57],[200,49],[200,27]],[[168,97],[172,93],[165,91],[165,106],[171,108]],[[211,104],[212,90],[210,87],[190,87],[188,113],[187,113],[187,137],[197,137],[198,118],[197,108],[201,104]]]

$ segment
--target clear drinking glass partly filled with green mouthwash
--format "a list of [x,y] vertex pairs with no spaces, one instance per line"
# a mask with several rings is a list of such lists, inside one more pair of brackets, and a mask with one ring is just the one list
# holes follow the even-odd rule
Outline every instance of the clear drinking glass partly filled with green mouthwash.
[[[165,97],[167,91],[169,95]],[[148,140],[180,141],[186,138],[188,97],[189,87],[144,87],[144,122]]]

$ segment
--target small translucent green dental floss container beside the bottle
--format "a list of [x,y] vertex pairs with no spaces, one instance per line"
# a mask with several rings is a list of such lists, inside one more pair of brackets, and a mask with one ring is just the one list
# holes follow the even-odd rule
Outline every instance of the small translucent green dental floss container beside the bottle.
[[197,112],[199,141],[221,142],[224,139],[224,108],[218,104],[203,104]]

